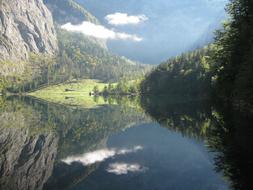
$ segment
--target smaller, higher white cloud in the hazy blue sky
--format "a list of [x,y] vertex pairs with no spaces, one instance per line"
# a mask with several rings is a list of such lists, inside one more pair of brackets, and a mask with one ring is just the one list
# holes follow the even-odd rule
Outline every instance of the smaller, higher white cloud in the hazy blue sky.
[[128,15],[127,13],[114,13],[109,14],[105,17],[111,25],[128,25],[128,24],[139,24],[148,20],[146,15]]

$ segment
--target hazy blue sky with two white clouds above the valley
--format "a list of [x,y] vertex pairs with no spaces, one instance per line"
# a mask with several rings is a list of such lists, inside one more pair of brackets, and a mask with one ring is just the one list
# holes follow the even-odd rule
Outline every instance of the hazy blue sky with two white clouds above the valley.
[[226,0],[78,0],[101,25],[63,27],[108,40],[114,53],[158,64],[210,41]]

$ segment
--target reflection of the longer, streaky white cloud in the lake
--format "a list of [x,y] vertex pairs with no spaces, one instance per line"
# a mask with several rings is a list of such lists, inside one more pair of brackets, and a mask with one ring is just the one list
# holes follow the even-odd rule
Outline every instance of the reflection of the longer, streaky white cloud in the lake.
[[79,156],[70,156],[62,160],[62,162],[71,165],[73,162],[80,162],[84,166],[88,166],[97,162],[103,162],[106,159],[116,155],[125,155],[142,150],[142,146],[135,146],[132,149],[101,149],[93,152],[88,152]]

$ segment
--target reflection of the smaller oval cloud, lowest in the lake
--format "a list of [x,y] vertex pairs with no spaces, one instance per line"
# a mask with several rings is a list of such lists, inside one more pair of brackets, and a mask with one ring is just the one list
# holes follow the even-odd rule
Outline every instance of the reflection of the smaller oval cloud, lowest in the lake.
[[146,167],[139,164],[113,163],[109,165],[106,171],[115,175],[125,175],[129,172],[145,172],[146,170]]

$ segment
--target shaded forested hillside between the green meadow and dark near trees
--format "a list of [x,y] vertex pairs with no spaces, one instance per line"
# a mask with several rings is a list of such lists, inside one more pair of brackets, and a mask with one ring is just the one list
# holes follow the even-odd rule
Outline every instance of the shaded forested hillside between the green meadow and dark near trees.
[[212,50],[210,45],[162,63],[142,82],[142,93],[207,96],[212,85]]

